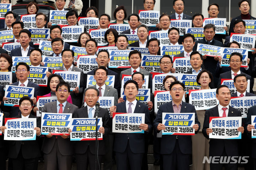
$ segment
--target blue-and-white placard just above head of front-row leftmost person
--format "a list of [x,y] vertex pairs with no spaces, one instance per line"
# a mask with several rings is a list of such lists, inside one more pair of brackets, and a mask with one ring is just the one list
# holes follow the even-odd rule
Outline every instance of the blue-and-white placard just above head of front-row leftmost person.
[[7,100],[4,101],[4,105],[18,107],[20,99],[24,96],[33,98],[34,87],[6,85],[5,97],[7,98]]

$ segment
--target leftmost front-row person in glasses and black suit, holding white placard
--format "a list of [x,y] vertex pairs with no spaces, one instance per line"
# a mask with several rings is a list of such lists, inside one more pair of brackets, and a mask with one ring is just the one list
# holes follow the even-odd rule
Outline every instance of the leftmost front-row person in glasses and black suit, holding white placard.
[[[36,170],[38,166],[38,158],[41,157],[40,147],[38,144],[41,135],[41,120],[30,114],[33,108],[33,101],[30,97],[24,96],[19,101],[19,109],[21,114],[15,118],[36,118],[37,122],[34,130],[36,130],[36,140],[25,141],[9,141],[9,158],[12,159],[12,167],[15,170]],[[4,133],[6,127],[1,126]]]

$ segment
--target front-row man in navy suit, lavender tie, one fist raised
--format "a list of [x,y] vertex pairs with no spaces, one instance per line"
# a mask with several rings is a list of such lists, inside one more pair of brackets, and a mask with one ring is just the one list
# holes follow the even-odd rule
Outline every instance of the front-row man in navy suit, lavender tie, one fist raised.
[[[126,101],[110,107],[110,115],[117,113],[144,113],[145,123],[139,125],[139,128],[145,133],[151,133],[152,125],[150,124],[148,106],[136,100],[138,94],[138,83],[134,80],[128,80],[124,84],[124,94]],[[112,119],[111,119],[112,120]],[[141,133],[116,133],[114,149],[116,152],[117,169],[141,170],[142,159],[145,152],[145,136]]]

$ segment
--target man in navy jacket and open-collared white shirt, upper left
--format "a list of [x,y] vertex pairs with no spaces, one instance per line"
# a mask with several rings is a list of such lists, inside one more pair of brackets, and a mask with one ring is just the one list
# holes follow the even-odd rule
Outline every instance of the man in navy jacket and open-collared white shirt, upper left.
[[30,56],[30,50],[33,49],[33,47],[30,46],[31,32],[27,29],[23,29],[20,31],[19,36],[21,46],[11,50],[10,56]]

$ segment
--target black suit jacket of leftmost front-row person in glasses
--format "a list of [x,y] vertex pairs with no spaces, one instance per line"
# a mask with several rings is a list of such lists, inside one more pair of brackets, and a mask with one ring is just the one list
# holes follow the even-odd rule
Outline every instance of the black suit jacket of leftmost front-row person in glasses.
[[[21,118],[21,114],[16,118]],[[32,114],[28,118],[36,118],[37,124],[36,127],[41,128],[41,119]],[[36,140],[28,141],[9,141],[9,158],[16,159],[19,152],[22,153],[23,158],[32,159],[41,157],[40,146],[39,146],[39,136],[36,136]]]

